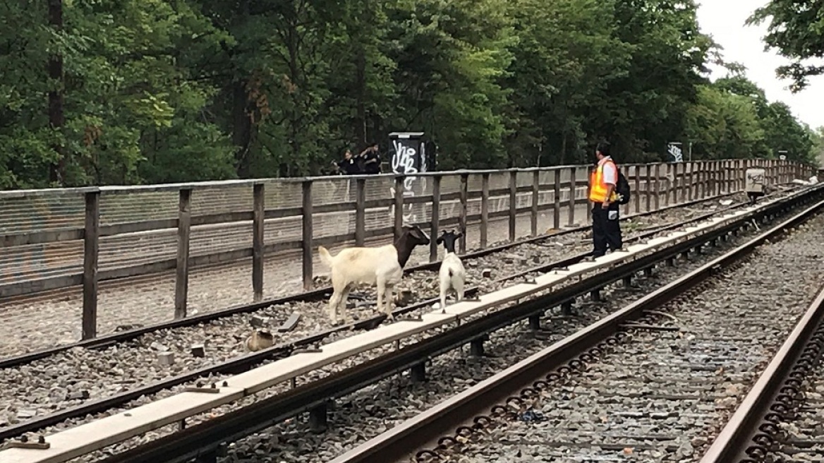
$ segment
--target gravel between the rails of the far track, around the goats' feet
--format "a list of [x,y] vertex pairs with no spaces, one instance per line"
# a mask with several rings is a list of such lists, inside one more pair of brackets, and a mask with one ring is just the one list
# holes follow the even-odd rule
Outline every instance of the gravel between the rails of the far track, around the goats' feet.
[[[625,236],[634,236],[644,229],[681,222],[719,208],[722,206],[716,200],[703,203],[703,207],[696,204],[689,208],[662,211],[643,217],[644,222],[639,219],[625,224]],[[539,262],[549,263],[588,250],[591,244],[586,235],[583,232],[550,236],[480,259],[465,260],[467,286],[480,285],[482,293],[496,291],[512,283],[492,283],[492,279],[515,274],[525,267],[539,265]],[[528,263],[524,265],[522,261],[527,256]],[[489,278],[482,277],[485,269],[491,270]],[[437,271],[407,275],[400,289],[412,295],[409,303],[437,297]],[[366,302],[350,297],[349,313],[362,319],[372,316],[374,291],[368,288],[356,294],[364,296]],[[160,330],[111,348],[73,348],[27,365],[5,368],[0,377],[0,389],[7,392],[0,400],[0,428],[236,358],[244,353],[243,340],[253,330],[250,322],[256,318],[264,320],[265,326],[273,332],[275,344],[328,329],[331,325],[325,312],[326,305],[326,301],[322,301],[269,306],[254,313],[225,317],[201,325]],[[288,333],[277,332],[276,328],[293,312],[302,317],[297,329]],[[349,334],[351,332],[335,334],[326,342]],[[194,355],[194,345],[204,346],[202,357]]]

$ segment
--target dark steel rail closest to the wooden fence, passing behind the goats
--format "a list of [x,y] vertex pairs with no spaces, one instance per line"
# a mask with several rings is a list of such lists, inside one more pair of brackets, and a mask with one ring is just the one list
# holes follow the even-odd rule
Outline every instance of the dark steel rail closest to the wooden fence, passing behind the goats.
[[[621,217],[621,220],[628,220],[630,218],[636,218],[636,217],[645,217],[645,216],[648,216],[648,215],[652,215],[654,213],[661,213],[661,212],[664,212],[664,211],[667,211],[667,210],[671,210],[673,208],[683,208],[683,207],[686,207],[686,206],[690,206],[692,204],[703,203],[703,202],[706,202],[706,201],[710,201],[710,200],[713,200],[713,199],[719,199],[719,198],[723,198],[725,196],[731,196],[733,194],[738,194],[738,193],[741,193],[741,192],[737,191],[737,192],[734,192],[734,193],[719,194],[719,195],[716,195],[712,198],[695,199],[695,200],[689,201],[687,203],[672,204],[670,206],[666,206],[664,208],[660,208],[660,209],[655,210],[655,211],[646,211],[644,213],[631,214],[627,217]],[[742,207],[742,206],[745,206],[745,205],[747,205],[747,204],[746,203],[740,203],[740,204],[737,204],[736,207]],[[715,212],[715,213],[717,213],[717,212]],[[542,234],[542,235],[539,235],[539,236],[531,236],[531,237],[523,239],[523,240],[513,241],[512,243],[506,243],[506,244],[499,245],[499,246],[492,246],[492,247],[489,247],[489,248],[486,248],[486,249],[483,249],[483,250],[476,250],[476,251],[473,251],[471,253],[467,253],[466,255],[461,255],[461,259],[463,259],[463,260],[479,259],[479,258],[485,257],[487,255],[491,255],[491,254],[503,252],[503,251],[508,250],[508,249],[512,249],[513,247],[522,246],[522,245],[534,243],[534,242],[537,242],[537,241],[544,241],[544,240],[555,238],[555,237],[558,237],[558,236],[565,236],[565,235],[569,235],[569,234],[573,234],[573,233],[585,232],[589,228],[590,228],[590,226],[575,227],[575,228],[569,228],[569,229],[562,230],[560,232],[556,232],[556,233],[552,233],[552,234]],[[411,274],[411,273],[419,272],[419,271],[422,271],[422,270],[438,269],[440,264],[441,264],[441,261],[438,260],[436,262],[428,262],[426,264],[415,265],[413,267],[409,267],[407,269],[404,269],[404,274]],[[72,343],[72,344],[63,344],[63,345],[59,345],[59,346],[54,346],[52,348],[44,348],[44,349],[36,350],[36,351],[30,352],[30,353],[23,353],[23,354],[20,354],[20,355],[16,355],[14,357],[2,358],[2,359],[0,359],[0,368],[16,367],[16,366],[19,366],[19,365],[24,365],[24,364],[29,363],[29,362],[34,362],[35,360],[40,360],[41,358],[47,358],[51,355],[54,355],[55,353],[65,352],[69,349],[77,348],[77,347],[81,347],[81,348],[107,348],[107,347],[110,347],[112,345],[122,343],[124,341],[128,341],[128,340],[131,340],[131,339],[138,338],[139,336],[142,336],[143,334],[153,333],[153,332],[159,331],[159,330],[170,330],[170,329],[173,330],[173,329],[182,328],[182,327],[185,327],[185,326],[198,325],[200,323],[207,323],[207,322],[210,322],[210,321],[213,321],[213,320],[218,320],[218,319],[221,319],[221,318],[225,318],[227,316],[234,316],[234,315],[242,314],[242,313],[260,311],[261,309],[265,309],[266,307],[269,307],[269,306],[279,306],[279,305],[283,305],[283,304],[288,304],[290,302],[316,302],[316,301],[321,301],[324,297],[329,296],[331,294],[331,292],[332,292],[332,288],[329,287],[329,286],[326,286],[324,288],[317,288],[317,289],[314,289],[312,291],[301,292],[301,293],[297,293],[297,294],[293,294],[293,295],[289,295],[289,296],[285,296],[285,297],[278,297],[278,298],[275,298],[275,299],[269,299],[269,300],[261,301],[261,302],[254,302],[254,303],[251,303],[251,304],[241,304],[241,305],[237,305],[237,306],[230,306],[230,307],[227,307],[225,309],[221,309],[219,311],[210,311],[210,312],[199,314],[199,315],[196,315],[196,316],[187,316],[185,318],[181,318],[181,319],[178,319],[178,320],[164,321],[164,322],[157,323],[157,324],[146,325],[146,326],[142,326],[142,327],[139,327],[139,328],[134,328],[132,330],[118,331],[118,332],[115,332],[115,333],[98,336],[94,339],[86,339],[86,340],[82,340],[82,341],[77,341],[77,342]],[[348,328],[348,326],[347,326],[347,328]]]

